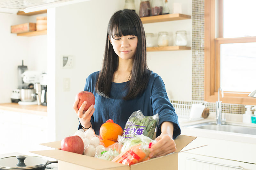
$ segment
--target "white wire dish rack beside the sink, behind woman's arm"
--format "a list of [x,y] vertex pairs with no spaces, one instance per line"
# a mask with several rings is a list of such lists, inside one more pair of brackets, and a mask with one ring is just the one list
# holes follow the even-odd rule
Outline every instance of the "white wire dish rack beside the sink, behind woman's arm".
[[184,101],[184,100],[175,100],[170,99],[172,106],[175,108],[175,112],[179,118],[186,118],[189,119],[190,110],[192,104],[200,103],[207,107],[207,101],[200,101],[200,100],[191,100],[191,101]]

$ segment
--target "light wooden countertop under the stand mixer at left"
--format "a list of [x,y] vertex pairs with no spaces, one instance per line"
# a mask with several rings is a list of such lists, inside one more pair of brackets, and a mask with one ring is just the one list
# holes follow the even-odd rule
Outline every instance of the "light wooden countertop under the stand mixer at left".
[[47,106],[42,105],[19,105],[18,103],[0,103],[0,109],[47,116]]

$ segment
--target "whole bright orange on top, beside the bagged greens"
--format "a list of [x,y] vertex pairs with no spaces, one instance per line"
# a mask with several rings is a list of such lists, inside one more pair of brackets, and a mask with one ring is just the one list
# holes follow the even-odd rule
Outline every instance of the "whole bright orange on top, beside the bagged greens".
[[[100,127],[100,137],[104,140],[112,140],[117,142],[118,135],[123,135],[123,129],[113,120],[109,119],[106,123],[103,123]],[[107,146],[106,146],[107,147]]]

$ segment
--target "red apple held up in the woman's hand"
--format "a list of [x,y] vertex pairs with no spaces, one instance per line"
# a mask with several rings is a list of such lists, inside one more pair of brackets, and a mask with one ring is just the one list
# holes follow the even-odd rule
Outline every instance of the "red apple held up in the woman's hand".
[[80,99],[79,103],[77,104],[77,108],[79,109],[84,101],[87,101],[84,111],[86,111],[91,105],[95,104],[95,98],[94,95],[91,92],[78,92],[76,94],[76,99]]

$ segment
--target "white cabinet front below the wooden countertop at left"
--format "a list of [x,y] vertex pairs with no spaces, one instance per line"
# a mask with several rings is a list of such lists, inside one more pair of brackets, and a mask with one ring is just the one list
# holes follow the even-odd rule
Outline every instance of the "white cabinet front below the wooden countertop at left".
[[46,138],[46,116],[0,110],[0,153],[34,151]]

